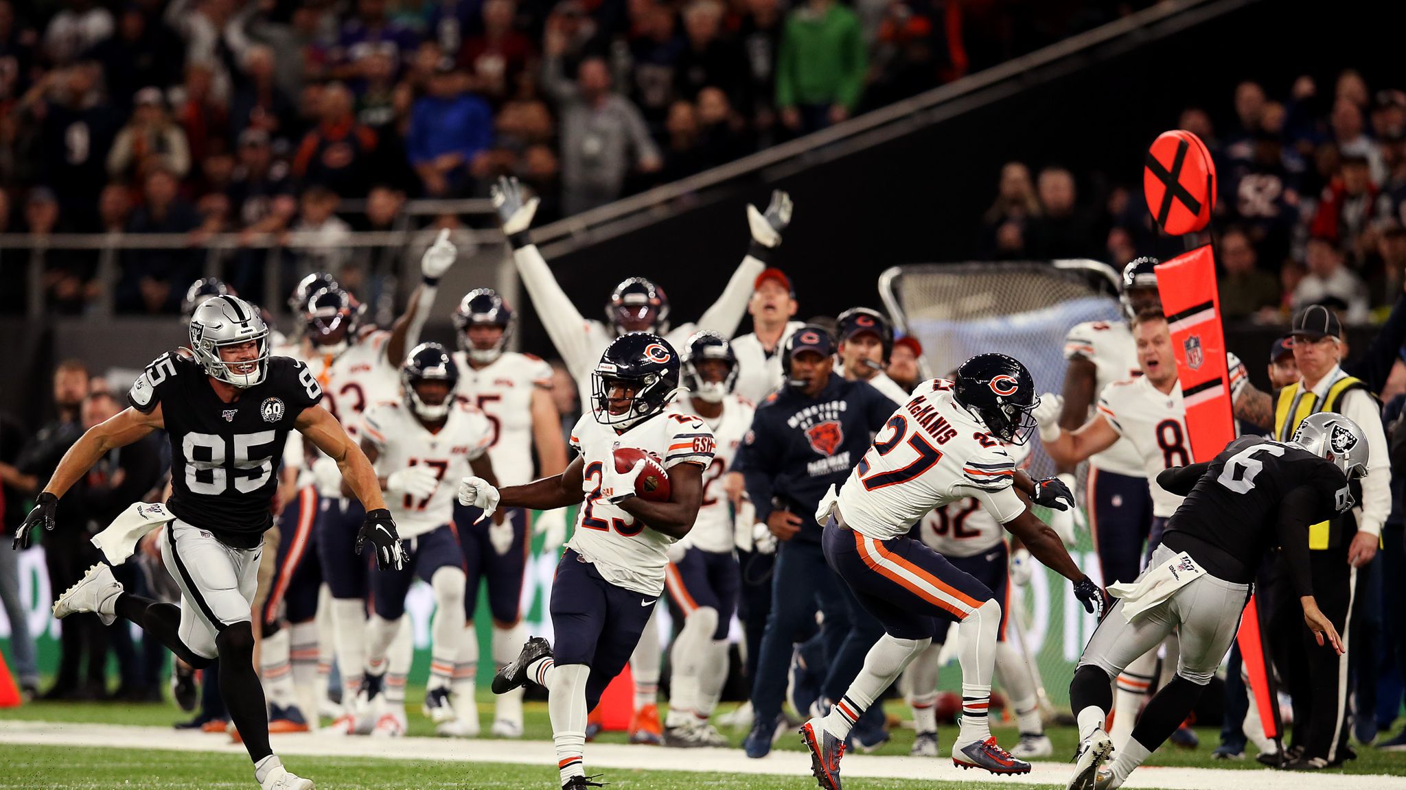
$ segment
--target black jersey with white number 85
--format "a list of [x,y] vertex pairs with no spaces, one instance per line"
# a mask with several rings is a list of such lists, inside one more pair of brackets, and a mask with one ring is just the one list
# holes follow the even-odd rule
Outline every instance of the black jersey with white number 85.
[[172,443],[170,512],[229,545],[259,545],[273,524],[283,444],[298,415],[322,399],[307,365],[270,357],[264,380],[226,403],[195,360],[166,353],[127,399],[142,413],[162,406]]

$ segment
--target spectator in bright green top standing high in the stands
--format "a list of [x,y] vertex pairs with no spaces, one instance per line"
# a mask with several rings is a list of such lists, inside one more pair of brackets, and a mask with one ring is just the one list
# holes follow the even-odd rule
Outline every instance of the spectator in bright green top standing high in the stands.
[[807,0],[786,17],[776,58],[782,124],[801,134],[848,118],[859,104],[869,53],[859,18],[835,0]]

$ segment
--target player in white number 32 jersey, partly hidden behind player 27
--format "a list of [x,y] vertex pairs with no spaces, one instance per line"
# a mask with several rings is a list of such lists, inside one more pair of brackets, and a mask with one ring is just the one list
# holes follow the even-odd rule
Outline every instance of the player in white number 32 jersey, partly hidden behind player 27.
[[[1029,465],[1028,444],[1002,444],[1002,448],[1011,455],[1017,468],[1024,470]],[[981,500],[976,496],[935,507],[914,526],[912,537],[946,557],[953,568],[970,574],[986,585],[1001,604],[1001,627],[995,641],[995,676],[1011,699],[1011,708],[1021,730],[1021,742],[1011,749],[1011,753],[1021,759],[1049,756],[1053,746],[1045,735],[1045,723],[1040,721],[1035,678],[1031,675],[1025,652],[1005,638],[1007,623],[1012,617],[1011,585],[1024,586],[1033,569],[1029,551],[1021,547],[1015,550],[1014,557],[1011,555],[1005,530],[981,507]],[[939,630],[935,638],[945,635]],[[934,641],[908,665],[908,679],[912,683],[912,720],[917,730],[912,756],[938,756],[934,704],[938,697],[941,651],[942,645]]]

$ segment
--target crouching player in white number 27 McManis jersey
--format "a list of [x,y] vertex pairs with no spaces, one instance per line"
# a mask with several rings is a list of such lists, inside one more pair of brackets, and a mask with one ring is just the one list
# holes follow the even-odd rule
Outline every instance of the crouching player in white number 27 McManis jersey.
[[934,507],[976,496],[1031,554],[1074,582],[1074,595],[1090,613],[1101,609],[1102,590],[1026,507],[1026,498],[1069,507],[1074,499],[1069,488],[1056,478],[1031,479],[1001,447],[1025,443],[1038,405],[1025,365],[1005,354],[977,354],[962,363],[955,382],[936,378],[920,385],[884,423],[838,495],[821,499],[815,520],[825,524],[825,561],[884,627],[845,696],[828,715],[801,727],[824,790],[839,790],[839,758],[851,727],[949,621],[959,623],[962,640],[962,730],[952,744],[953,765],[1029,773],[1031,763],[998,746],[987,723],[1001,604],[990,588],[908,531]]

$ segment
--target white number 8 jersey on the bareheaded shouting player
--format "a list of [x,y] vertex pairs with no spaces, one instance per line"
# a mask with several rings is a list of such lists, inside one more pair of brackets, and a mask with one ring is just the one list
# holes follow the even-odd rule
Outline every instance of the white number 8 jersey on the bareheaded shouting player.
[[1098,413],[1137,450],[1137,477],[1147,478],[1153,516],[1171,517],[1182,498],[1157,485],[1157,472],[1191,462],[1181,384],[1163,395],[1146,377],[1115,381],[1098,398]]

